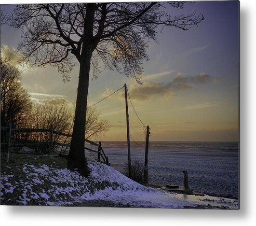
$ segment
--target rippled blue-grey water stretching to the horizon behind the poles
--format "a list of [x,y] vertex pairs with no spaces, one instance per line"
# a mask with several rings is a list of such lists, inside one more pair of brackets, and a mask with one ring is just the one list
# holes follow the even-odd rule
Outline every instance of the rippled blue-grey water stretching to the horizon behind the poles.
[[[111,166],[120,172],[128,161],[125,142],[102,142]],[[131,159],[144,163],[142,142],[131,144]],[[238,142],[151,142],[149,183],[183,185],[183,171],[194,191],[238,196]]]

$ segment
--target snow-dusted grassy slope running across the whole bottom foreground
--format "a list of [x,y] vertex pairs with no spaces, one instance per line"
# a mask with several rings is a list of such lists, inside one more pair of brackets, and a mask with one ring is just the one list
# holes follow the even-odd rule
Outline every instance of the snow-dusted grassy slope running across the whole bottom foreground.
[[59,206],[102,200],[113,203],[113,206],[238,209],[236,200],[170,193],[142,186],[96,161],[88,161],[88,166],[91,174],[87,178],[69,169],[25,163],[22,166],[25,180],[13,182],[15,175],[1,174],[1,202],[8,204],[11,201],[8,193],[18,192],[21,195],[16,202],[20,205]]

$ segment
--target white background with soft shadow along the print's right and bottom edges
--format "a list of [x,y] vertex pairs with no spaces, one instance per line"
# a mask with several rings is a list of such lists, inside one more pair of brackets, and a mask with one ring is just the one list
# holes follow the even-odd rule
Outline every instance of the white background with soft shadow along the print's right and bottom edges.
[[[25,0],[6,4],[38,2],[83,1]],[[1,225],[253,225],[256,204],[255,2],[240,1],[240,210],[0,206]]]

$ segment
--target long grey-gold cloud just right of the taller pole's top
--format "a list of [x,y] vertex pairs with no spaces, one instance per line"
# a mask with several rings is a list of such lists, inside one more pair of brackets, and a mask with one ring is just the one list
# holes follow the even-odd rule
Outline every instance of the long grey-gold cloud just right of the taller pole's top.
[[[204,84],[215,82],[215,78],[206,73],[193,76],[184,76],[178,74],[170,82],[144,82],[142,85],[132,83],[129,87],[129,93],[133,100],[144,101],[149,100],[153,95],[163,97],[173,97],[178,91],[194,88],[194,84]],[[120,94],[119,94],[120,95]],[[123,93],[121,95],[124,95]]]

